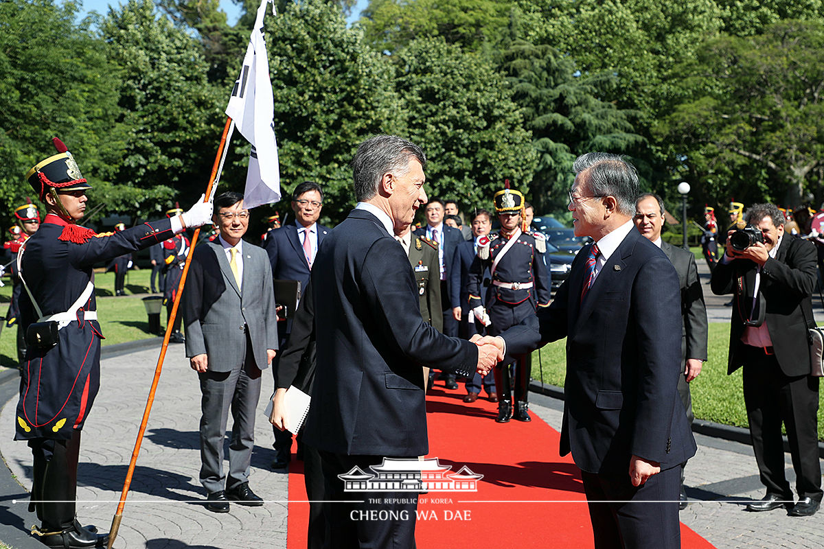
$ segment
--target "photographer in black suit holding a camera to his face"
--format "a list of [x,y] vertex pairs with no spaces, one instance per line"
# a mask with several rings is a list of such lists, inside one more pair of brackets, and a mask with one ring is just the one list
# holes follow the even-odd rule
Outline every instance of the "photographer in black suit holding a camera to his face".
[[[747,510],[784,507],[790,516],[811,516],[822,501],[818,378],[810,375],[808,343],[816,249],[784,232],[784,216],[773,204],[752,206],[746,221],[746,228],[728,232],[711,287],[716,295],[733,294],[728,374],[744,367],[752,449],[766,486],[765,498]],[[797,477],[795,504],[784,477],[782,422]]]

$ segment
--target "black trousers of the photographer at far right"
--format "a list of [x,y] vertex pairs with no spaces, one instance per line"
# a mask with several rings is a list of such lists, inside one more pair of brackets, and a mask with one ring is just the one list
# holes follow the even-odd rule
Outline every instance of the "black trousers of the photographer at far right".
[[[804,345],[807,342],[803,342]],[[752,449],[767,493],[793,499],[784,477],[784,440],[787,430],[798,497],[822,500],[822,472],[818,461],[818,378],[788,377],[775,355],[744,345],[744,402],[750,421]]]

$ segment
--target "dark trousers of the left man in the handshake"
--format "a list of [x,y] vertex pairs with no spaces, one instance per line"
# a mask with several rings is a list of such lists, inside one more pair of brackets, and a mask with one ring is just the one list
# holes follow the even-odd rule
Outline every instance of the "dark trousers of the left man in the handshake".
[[327,549],[414,549],[415,492],[346,492],[338,475],[358,467],[371,472],[370,465],[383,462],[381,456],[333,454],[321,451],[324,499],[343,501],[326,505],[330,539]]

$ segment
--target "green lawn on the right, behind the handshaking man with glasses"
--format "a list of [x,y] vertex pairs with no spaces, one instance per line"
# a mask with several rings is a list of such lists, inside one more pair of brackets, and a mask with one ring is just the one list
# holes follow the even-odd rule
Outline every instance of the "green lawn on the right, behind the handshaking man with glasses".
[[[541,349],[541,366],[538,353],[532,353],[532,379],[544,383],[564,386],[566,340],[550,343]],[[747,411],[744,408],[742,391],[742,370],[727,375],[727,353],[729,348],[729,324],[710,323],[708,355],[701,374],[690,384],[692,408],[695,417],[725,425],[747,427]],[[824,440],[824,391],[818,395],[818,439]]]

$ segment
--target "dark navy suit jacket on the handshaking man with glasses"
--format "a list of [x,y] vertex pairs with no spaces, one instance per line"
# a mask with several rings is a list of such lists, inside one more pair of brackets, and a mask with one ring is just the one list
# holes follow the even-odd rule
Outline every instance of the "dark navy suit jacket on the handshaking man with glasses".
[[549,307],[503,333],[507,353],[567,337],[560,454],[571,451],[583,471],[626,474],[631,455],[676,467],[696,449],[677,393],[677,273],[655,244],[630,230],[582,304],[591,246]]

